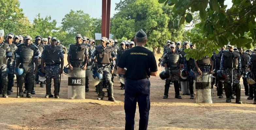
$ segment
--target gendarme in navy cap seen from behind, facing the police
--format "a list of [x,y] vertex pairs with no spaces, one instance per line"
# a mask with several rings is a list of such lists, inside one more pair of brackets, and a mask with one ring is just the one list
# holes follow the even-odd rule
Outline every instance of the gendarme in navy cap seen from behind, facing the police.
[[[124,51],[117,71],[126,77],[125,79],[125,130],[134,129],[134,117],[136,103],[139,105],[139,130],[148,127],[150,110],[150,76],[156,76],[157,65],[154,54],[146,49],[147,35],[141,29],[134,38],[136,46]],[[124,69],[124,68],[127,68]]]

